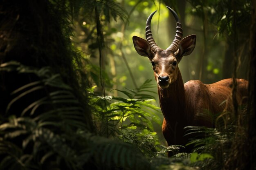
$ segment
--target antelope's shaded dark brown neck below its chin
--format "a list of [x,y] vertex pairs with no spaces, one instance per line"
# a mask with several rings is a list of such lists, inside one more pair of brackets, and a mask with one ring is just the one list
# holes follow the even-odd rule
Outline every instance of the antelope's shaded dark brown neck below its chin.
[[168,88],[158,87],[159,104],[168,123],[182,121],[185,116],[186,95],[180,70],[177,70],[177,80]]

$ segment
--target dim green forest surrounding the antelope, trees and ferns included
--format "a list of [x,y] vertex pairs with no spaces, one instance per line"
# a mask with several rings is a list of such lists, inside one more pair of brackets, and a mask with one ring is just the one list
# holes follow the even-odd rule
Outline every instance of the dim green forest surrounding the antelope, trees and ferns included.
[[[172,44],[166,6],[197,39],[183,82],[232,80],[232,111],[205,109],[213,127],[184,127],[186,144],[167,144],[155,66],[133,41],[157,10],[154,40]],[[255,67],[256,0],[0,0],[0,170],[256,170]]]

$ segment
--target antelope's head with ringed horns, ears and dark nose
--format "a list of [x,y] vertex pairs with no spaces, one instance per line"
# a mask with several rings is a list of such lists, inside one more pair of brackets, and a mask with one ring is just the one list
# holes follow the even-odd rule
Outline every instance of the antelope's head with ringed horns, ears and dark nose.
[[196,35],[189,35],[182,39],[182,25],[177,13],[167,7],[176,20],[176,35],[166,50],[157,46],[150,30],[150,23],[155,12],[151,13],[146,22],[146,40],[133,36],[134,47],[139,55],[146,56],[151,61],[155,79],[160,88],[168,88],[176,81],[178,64],[184,55],[189,55],[195,48]]

